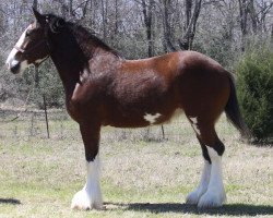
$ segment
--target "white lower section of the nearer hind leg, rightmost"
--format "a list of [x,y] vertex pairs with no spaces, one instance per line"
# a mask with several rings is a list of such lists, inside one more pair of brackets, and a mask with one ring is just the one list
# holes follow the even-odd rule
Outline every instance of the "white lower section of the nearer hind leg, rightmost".
[[198,207],[219,207],[226,201],[222,174],[222,159],[212,147],[206,146],[206,148],[212,161],[211,178],[207,191],[201,196]]

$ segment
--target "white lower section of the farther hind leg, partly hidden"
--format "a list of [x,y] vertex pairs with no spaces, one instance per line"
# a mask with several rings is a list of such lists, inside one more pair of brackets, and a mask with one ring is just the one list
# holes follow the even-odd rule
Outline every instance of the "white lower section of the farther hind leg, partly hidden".
[[207,185],[211,177],[211,165],[207,160],[204,160],[204,168],[201,175],[201,181],[199,186],[187,196],[187,204],[197,205],[200,197],[206,192]]

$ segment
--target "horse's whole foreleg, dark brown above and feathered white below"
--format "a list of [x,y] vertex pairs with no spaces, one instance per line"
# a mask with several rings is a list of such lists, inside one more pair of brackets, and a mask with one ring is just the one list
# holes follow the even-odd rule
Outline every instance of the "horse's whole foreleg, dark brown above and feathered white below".
[[84,187],[79,191],[71,204],[75,209],[102,209],[103,199],[99,185],[99,126],[80,124],[80,130],[85,148],[87,180]]

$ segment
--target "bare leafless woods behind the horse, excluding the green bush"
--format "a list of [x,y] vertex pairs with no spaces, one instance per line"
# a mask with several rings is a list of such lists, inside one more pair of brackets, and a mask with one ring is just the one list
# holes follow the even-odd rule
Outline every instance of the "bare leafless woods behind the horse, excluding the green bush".
[[4,61],[34,21],[32,7],[76,22],[126,59],[197,50],[230,71],[248,49],[273,41],[272,0],[1,0],[0,104],[62,107],[59,76],[50,60],[37,73],[15,77]]

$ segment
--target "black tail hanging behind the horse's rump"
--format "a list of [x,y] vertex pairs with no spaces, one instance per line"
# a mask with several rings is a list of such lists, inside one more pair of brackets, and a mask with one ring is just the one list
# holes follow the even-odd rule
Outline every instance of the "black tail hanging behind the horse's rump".
[[240,113],[239,104],[238,104],[238,99],[236,96],[235,81],[234,81],[233,75],[232,74],[229,75],[230,75],[229,76],[230,95],[225,107],[225,112],[226,112],[227,119],[234,124],[234,126],[238,131],[240,131],[241,136],[250,138],[251,137],[250,131],[248,126],[246,125]]

